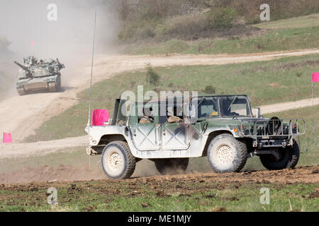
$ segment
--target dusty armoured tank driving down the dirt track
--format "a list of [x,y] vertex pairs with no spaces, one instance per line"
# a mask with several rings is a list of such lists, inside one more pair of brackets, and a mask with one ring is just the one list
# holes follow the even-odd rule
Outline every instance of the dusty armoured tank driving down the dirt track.
[[18,81],[16,89],[19,95],[26,95],[35,90],[48,90],[51,93],[59,92],[61,89],[61,69],[65,65],[59,59],[36,59],[27,57],[23,59],[23,64],[14,61],[20,67],[18,70]]

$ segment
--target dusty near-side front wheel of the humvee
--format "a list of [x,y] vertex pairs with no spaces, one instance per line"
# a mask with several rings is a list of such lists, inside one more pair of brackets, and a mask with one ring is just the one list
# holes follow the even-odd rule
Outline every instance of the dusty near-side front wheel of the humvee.
[[247,145],[224,133],[213,138],[207,156],[215,172],[240,172],[247,162]]

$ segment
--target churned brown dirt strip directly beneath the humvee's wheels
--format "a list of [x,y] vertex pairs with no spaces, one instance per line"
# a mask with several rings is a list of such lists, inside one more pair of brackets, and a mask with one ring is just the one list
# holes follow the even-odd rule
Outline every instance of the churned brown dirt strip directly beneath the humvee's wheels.
[[[134,188],[136,184],[146,184],[150,189],[159,189],[157,196],[165,196],[163,193],[163,186],[169,183],[166,189],[173,190],[188,190],[188,184],[207,184],[217,183],[218,189],[225,189],[228,186],[233,188],[239,188],[245,184],[318,184],[319,174],[316,173],[319,170],[319,166],[301,166],[296,169],[283,169],[278,171],[245,171],[239,173],[225,173],[216,174],[214,172],[205,174],[180,174],[170,176],[152,176],[152,177],[135,177],[125,180],[125,184],[128,187]],[[34,183],[38,183],[40,186],[47,184],[47,182],[55,182],[63,185],[72,181],[91,181],[91,180],[103,180],[106,184],[113,183],[114,181],[106,179],[103,172],[96,169],[89,169],[88,167],[72,167],[60,165],[53,168],[48,166],[29,168],[25,167],[17,172],[10,172],[0,174],[0,184],[3,187],[14,187],[12,183],[24,184],[21,185],[26,189],[30,189],[29,186],[34,186]],[[33,184],[26,184],[33,182]],[[121,181],[124,182],[124,181]],[[6,185],[4,185],[6,184]],[[205,189],[205,186],[201,186]],[[194,189],[194,188],[193,188]],[[207,187],[206,189],[211,189]],[[133,194],[138,195],[138,194]],[[313,194],[313,196],[318,196]]]

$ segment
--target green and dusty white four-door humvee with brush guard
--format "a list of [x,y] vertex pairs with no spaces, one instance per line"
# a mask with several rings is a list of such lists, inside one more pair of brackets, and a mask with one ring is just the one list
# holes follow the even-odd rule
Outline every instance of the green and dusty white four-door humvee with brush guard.
[[[128,105],[118,99],[109,124],[86,127],[86,153],[102,155],[111,179],[129,178],[142,159],[155,162],[162,174],[185,171],[191,157],[208,157],[218,173],[240,172],[254,155],[269,170],[298,163],[303,119],[266,119],[260,109],[254,116],[247,95],[202,95],[189,98],[182,108],[169,100]],[[172,114],[181,120],[169,123]],[[141,123],[143,117],[152,120]]]

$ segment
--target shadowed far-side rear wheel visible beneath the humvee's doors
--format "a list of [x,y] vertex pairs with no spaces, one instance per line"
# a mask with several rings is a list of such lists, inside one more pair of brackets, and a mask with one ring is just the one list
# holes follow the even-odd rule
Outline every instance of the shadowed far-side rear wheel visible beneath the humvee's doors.
[[172,158],[154,160],[155,167],[162,175],[184,173],[189,166],[189,158]]

